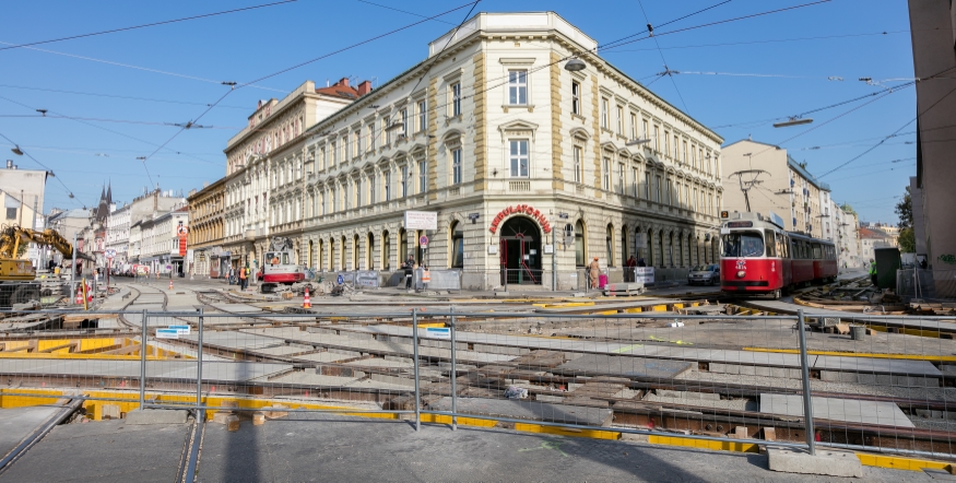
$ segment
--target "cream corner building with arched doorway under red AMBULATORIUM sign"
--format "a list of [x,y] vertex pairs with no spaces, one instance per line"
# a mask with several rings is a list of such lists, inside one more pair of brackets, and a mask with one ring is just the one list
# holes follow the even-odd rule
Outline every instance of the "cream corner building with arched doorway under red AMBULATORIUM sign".
[[[475,15],[304,132],[303,205],[272,210],[272,233],[300,213],[299,263],[386,284],[409,255],[482,290],[503,269],[579,288],[593,257],[612,281],[632,255],[659,276],[715,261],[723,140],[595,47],[553,12]],[[565,70],[573,55],[585,70]],[[436,212],[437,231],[405,229],[406,210]]]

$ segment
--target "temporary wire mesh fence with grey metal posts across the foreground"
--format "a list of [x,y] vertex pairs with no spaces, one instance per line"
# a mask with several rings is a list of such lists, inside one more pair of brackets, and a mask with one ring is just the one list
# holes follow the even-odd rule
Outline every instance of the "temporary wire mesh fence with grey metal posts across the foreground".
[[743,450],[956,456],[954,317],[740,317],[660,301],[533,313],[224,310],[91,311],[76,329],[0,326],[0,407],[63,396],[95,419],[272,407],[409,419],[416,428],[506,423]]

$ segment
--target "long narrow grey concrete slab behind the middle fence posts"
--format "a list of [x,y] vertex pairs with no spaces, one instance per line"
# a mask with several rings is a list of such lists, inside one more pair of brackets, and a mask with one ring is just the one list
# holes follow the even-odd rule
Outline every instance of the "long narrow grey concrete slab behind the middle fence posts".
[[[554,404],[550,402],[458,398],[456,404],[456,409],[461,414],[547,421],[585,426],[610,426],[613,417],[613,412],[610,409]],[[451,398],[441,398],[429,404],[429,407],[436,411],[451,411]]]

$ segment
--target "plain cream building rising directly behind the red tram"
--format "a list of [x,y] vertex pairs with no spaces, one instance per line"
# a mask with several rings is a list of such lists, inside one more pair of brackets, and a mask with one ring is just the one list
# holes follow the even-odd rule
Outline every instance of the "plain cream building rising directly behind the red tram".
[[[723,146],[722,158],[724,210],[746,211],[741,180],[733,174],[762,169],[766,173],[757,175],[757,182],[748,190],[751,211],[777,213],[789,232],[835,239],[829,185],[811,175],[786,149],[744,139]],[[743,176],[745,189],[754,176]]]

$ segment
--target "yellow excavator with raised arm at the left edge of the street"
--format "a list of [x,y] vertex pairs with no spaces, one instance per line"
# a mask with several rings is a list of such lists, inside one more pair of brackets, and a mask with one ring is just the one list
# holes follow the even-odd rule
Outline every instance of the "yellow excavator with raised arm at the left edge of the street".
[[[12,304],[23,304],[31,299],[39,301],[40,284],[23,283],[36,280],[36,269],[29,260],[19,258],[20,247],[29,243],[52,247],[63,254],[73,256],[73,245],[67,241],[56,229],[24,228],[17,225],[0,227],[0,307]],[[93,257],[76,251],[76,258],[95,261]],[[19,282],[19,283],[17,283]]]

